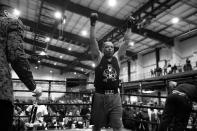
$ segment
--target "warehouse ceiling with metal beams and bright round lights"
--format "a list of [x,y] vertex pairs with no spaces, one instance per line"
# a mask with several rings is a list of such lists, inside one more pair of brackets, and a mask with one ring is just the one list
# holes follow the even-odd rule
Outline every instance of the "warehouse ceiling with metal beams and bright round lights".
[[[173,46],[175,38],[187,39],[182,36],[188,32],[197,35],[196,0],[116,0],[114,7],[109,1],[112,0],[0,0],[0,3],[20,10],[25,25],[24,47],[32,58],[30,61],[62,73],[87,76],[94,69],[89,53],[89,16],[93,12],[99,14],[96,25],[99,45],[110,40],[117,49],[124,42],[126,19],[130,15],[135,18],[131,35],[134,45],[127,49],[129,57]],[[59,19],[54,17],[57,11],[62,13]],[[39,54],[42,51],[45,56]]]

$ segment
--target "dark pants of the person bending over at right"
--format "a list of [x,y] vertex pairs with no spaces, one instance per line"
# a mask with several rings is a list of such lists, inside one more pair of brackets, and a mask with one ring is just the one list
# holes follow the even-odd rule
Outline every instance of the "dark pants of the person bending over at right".
[[164,112],[158,131],[184,131],[192,111],[192,103],[186,96],[170,94],[166,99]]

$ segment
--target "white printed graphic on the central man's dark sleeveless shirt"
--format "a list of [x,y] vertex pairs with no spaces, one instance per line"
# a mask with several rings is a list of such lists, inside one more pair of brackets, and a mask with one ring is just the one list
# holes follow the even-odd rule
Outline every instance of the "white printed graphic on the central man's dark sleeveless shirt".
[[113,68],[113,66],[111,64],[108,64],[107,65],[107,69],[105,69],[103,71],[103,76],[106,77],[103,80],[105,82],[107,82],[107,80],[115,81],[116,80],[116,76],[117,76],[117,72],[116,72],[116,70]]

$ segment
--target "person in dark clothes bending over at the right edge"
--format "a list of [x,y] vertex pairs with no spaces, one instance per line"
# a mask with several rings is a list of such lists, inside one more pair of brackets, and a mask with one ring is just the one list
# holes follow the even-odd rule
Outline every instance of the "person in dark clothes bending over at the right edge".
[[170,81],[169,86],[173,91],[166,99],[159,131],[170,128],[173,131],[185,131],[192,112],[192,102],[197,101],[196,81],[182,84]]

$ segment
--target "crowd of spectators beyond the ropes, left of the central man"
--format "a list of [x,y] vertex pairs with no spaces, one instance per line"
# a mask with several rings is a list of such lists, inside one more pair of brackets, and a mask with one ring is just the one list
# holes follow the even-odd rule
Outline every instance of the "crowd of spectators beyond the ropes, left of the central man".
[[[28,130],[25,125],[26,123],[29,123],[33,102],[30,102],[32,105],[24,105],[25,102],[15,100],[15,103],[21,103],[21,105],[15,104],[14,107],[14,130]],[[89,105],[90,101],[84,102],[83,100],[74,99],[65,100],[63,103],[60,100],[50,101],[50,103],[54,103],[55,105],[38,105],[39,113],[43,113],[38,114],[37,111],[36,119],[42,123],[42,125],[39,126],[37,130],[89,127],[91,110]],[[60,105],[58,105],[58,103]]]

